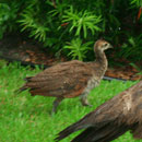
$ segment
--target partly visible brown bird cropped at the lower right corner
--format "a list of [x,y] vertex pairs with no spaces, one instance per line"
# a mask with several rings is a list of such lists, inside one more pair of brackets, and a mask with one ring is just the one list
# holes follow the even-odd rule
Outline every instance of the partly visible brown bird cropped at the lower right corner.
[[134,139],[142,139],[142,81],[66,128],[56,140],[81,129],[71,142],[110,142],[129,130]]

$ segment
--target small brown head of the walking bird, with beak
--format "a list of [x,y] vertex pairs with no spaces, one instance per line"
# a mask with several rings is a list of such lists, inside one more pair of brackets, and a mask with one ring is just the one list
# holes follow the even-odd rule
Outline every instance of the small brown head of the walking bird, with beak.
[[96,50],[104,51],[104,50],[109,49],[109,48],[113,48],[113,46],[111,46],[108,42],[106,42],[106,40],[104,40],[104,39],[98,39],[98,40],[95,43],[95,45],[94,45],[94,50],[95,50],[95,51],[96,51]]

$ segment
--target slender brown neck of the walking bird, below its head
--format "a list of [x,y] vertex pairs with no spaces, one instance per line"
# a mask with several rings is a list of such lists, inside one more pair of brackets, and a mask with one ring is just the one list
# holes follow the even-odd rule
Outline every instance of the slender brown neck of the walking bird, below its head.
[[108,67],[107,58],[104,51],[96,50],[95,54],[96,54],[96,63],[98,64],[99,68],[98,75],[102,78],[105,74]]

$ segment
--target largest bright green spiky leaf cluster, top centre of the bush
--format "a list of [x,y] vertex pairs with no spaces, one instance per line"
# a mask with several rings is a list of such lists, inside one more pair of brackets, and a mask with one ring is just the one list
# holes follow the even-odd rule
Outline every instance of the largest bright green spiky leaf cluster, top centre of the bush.
[[73,7],[70,7],[69,10],[64,11],[62,19],[63,23],[70,23],[69,32],[72,32],[74,28],[76,28],[76,36],[81,36],[82,29],[84,38],[87,36],[87,29],[92,32],[92,35],[94,35],[95,32],[100,32],[100,28],[97,26],[102,21],[100,15],[97,16],[87,10],[78,12],[73,10]]

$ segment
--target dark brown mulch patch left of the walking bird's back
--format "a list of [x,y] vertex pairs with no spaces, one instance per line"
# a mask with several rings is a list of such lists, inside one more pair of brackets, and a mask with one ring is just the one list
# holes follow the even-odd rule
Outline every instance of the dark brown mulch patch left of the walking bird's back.
[[63,59],[54,58],[48,50],[42,49],[42,45],[31,39],[9,36],[0,40],[0,58],[10,61],[17,60],[27,63],[52,66]]

